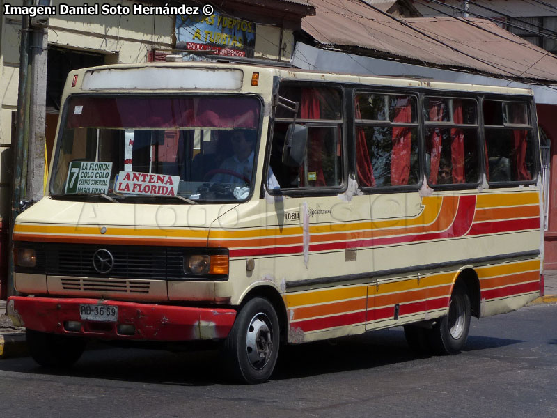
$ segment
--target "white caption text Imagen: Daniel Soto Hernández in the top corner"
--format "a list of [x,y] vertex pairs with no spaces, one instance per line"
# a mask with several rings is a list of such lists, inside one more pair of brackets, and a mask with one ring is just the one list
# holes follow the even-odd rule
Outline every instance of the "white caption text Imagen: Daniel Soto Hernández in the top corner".
[[36,16],[54,16],[56,15],[56,7],[58,7],[58,15],[198,15],[200,10],[197,6],[148,6],[146,4],[134,4],[124,6],[122,4],[87,4],[80,6],[70,6],[61,3],[58,6],[12,6],[5,3],[3,5],[4,15],[26,15],[30,17]]

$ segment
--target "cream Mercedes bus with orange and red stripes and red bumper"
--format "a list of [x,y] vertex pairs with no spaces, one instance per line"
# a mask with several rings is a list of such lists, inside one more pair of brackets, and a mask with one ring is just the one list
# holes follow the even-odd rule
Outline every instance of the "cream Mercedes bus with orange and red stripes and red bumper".
[[403,326],[450,355],[540,295],[528,89],[233,62],[68,75],[47,195],[17,217],[8,314],[42,366],[91,339],[279,348]]

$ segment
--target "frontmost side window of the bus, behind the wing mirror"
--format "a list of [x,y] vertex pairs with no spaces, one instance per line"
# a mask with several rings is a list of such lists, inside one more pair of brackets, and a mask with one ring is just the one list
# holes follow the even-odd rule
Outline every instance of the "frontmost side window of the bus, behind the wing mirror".
[[278,185],[281,189],[342,185],[340,91],[334,88],[287,86],[281,87],[279,94],[300,103],[296,123],[308,124],[308,148],[301,167],[292,168],[282,164],[286,130],[293,115],[278,108],[270,159],[270,168]]

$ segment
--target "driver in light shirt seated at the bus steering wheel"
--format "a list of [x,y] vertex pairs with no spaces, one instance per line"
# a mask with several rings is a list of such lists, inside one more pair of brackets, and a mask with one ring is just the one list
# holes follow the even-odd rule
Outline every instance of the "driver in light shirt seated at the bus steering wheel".
[[[250,183],[253,171],[254,157],[254,130],[234,130],[230,141],[232,142],[233,155],[226,158],[219,167],[211,181],[218,183]],[[268,186],[270,189],[280,187],[269,167]]]

